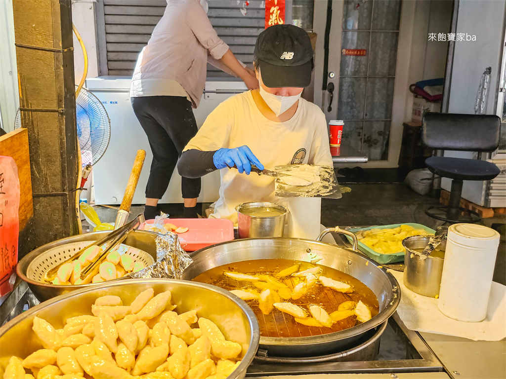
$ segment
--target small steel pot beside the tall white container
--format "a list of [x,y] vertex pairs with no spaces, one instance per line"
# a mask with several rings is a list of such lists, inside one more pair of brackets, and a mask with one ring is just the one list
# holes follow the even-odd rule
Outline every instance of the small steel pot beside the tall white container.
[[[404,254],[404,286],[419,295],[435,297],[439,295],[441,275],[443,274],[443,258],[429,255],[420,259],[420,254],[413,249],[424,249],[429,243],[430,235],[413,235],[402,241],[406,249]],[[446,249],[446,239],[441,242],[437,250]]]

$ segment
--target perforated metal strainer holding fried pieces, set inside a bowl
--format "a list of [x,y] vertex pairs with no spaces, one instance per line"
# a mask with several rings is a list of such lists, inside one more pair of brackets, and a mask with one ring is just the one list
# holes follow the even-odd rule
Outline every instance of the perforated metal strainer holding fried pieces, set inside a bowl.
[[[45,283],[44,274],[47,271],[71,258],[77,254],[79,250],[90,245],[91,242],[92,241],[72,242],[47,250],[31,261],[26,270],[26,276],[31,280]],[[141,262],[144,266],[150,266],[154,263],[153,257],[142,250],[130,251],[129,249],[125,254],[130,255],[134,263]]]

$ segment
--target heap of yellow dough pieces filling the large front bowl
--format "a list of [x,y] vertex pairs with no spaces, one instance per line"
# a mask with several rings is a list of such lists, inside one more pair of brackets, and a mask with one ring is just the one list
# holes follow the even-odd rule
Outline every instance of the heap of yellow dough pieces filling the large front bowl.
[[103,296],[94,316],[68,318],[61,329],[35,316],[41,349],[10,357],[4,378],[225,379],[241,362],[242,346],[198,311],[175,312],[171,297],[149,289],[124,306],[118,296]]

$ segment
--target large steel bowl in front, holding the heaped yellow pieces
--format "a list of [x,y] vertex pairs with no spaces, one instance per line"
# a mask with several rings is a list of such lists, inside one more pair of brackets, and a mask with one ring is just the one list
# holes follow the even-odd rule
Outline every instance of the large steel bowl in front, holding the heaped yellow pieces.
[[[215,322],[225,338],[243,346],[242,361],[229,379],[243,378],[257,353],[260,332],[257,318],[246,303],[230,292],[203,283],[175,279],[131,279],[101,283],[58,296],[22,313],[0,328],[0,362],[16,355],[27,357],[41,345],[32,330],[33,317],[41,317],[54,327],[63,327],[73,316],[91,314],[95,300],[104,295],[119,296],[130,304],[139,293],[153,288],[155,293],[170,290],[179,313],[197,310],[197,315]],[[4,366],[5,367],[5,366]]]

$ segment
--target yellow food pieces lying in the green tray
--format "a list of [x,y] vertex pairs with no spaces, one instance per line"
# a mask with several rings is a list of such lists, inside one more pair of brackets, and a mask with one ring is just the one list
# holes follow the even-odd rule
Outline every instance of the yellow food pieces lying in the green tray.
[[355,233],[358,240],[367,247],[381,254],[395,254],[404,251],[402,240],[412,235],[427,234],[425,229],[416,229],[410,225],[396,228],[359,230]]

